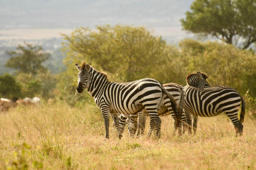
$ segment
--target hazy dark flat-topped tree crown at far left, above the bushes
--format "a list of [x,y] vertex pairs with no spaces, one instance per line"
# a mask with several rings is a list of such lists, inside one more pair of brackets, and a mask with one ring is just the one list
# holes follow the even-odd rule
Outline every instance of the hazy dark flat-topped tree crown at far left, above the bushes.
[[7,52],[11,58],[5,66],[18,70],[21,73],[37,74],[39,70],[46,70],[42,65],[49,57],[49,53],[43,51],[42,46],[33,46],[25,43],[25,46],[18,45],[17,50]]

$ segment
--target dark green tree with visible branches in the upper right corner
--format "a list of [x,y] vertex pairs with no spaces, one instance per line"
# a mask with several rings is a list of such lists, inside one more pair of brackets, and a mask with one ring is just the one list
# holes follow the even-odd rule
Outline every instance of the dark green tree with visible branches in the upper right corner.
[[184,30],[241,49],[256,42],[256,0],[196,0],[181,19]]

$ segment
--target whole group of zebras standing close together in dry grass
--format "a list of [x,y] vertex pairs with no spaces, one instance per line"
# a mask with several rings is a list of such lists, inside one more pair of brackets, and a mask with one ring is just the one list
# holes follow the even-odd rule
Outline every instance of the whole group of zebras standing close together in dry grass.
[[[144,133],[146,115],[150,117],[150,130],[156,136],[161,135],[161,118],[172,115],[174,118],[174,134],[185,130],[196,133],[198,116],[212,117],[224,112],[233,123],[236,135],[243,134],[245,101],[233,88],[227,86],[210,87],[205,73],[189,74],[185,87],[175,84],[162,84],[154,79],[141,79],[127,83],[108,81],[106,73],[97,71],[83,62],[76,64],[77,92],[87,89],[101,109],[105,123],[105,139],[109,139],[109,117],[117,129],[119,139],[122,138],[125,124],[131,137]],[[238,111],[241,107],[240,120]],[[110,115],[110,116],[109,116]],[[139,120],[137,121],[137,119]]]

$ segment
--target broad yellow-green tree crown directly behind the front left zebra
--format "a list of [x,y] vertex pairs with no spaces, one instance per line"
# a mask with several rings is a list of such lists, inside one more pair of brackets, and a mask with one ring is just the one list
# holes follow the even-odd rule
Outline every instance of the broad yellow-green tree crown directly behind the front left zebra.
[[163,68],[174,64],[170,64],[174,48],[168,46],[162,37],[152,36],[145,27],[117,24],[114,27],[97,26],[96,29],[81,27],[71,35],[63,35],[68,40],[62,50],[67,54],[64,63],[69,73],[77,73],[74,63],[84,61],[110,73],[116,81],[146,77],[167,81],[168,75],[163,73]]

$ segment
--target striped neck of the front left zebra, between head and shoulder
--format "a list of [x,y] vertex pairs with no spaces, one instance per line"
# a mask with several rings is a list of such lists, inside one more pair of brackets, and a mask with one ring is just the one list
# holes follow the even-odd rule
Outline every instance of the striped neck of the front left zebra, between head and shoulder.
[[98,98],[102,89],[104,89],[105,84],[108,82],[108,77],[106,74],[92,71],[91,72],[91,83],[90,86],[87,88],[89,94],[95,99]]

